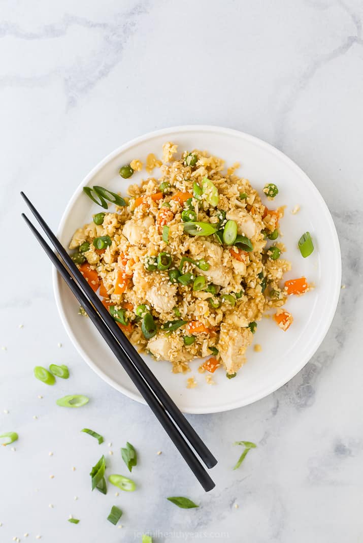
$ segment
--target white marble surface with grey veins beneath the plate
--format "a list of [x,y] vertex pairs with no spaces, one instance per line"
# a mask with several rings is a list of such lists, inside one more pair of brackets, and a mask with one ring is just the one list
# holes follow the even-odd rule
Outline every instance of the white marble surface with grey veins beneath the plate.
[[[20,439],[16,451],[0,451],[1,543],[37,534],[44,543],[129,542],[146,531],[158,532],[156,543],[363,541],[362,18],[359,0],[2,0],[0,430]],[[109,151],[197,123],[250,132],[308,173],[333,214],[346,284],[321,348],[290,383],[249,407],[189,417],[219,458],[209,494],[148,409],[75,352],[19,197],[26,191],[56,228],[75,186]],[[50,388],[33,367],[53,362],[72,375]],[[91,402],[58,408],[69,392]],[[81,434],[85,426],[106,443]],[[243,439],[258,448],[232,471],[232,443]],[[90,467],[111,441],[108,462],[124,472],[126,440],[139,451],[139,489],[92,494]],[[170,495],[200,508],[178,509]],[[122,529],[106,521],[113,504],[124,510]]]

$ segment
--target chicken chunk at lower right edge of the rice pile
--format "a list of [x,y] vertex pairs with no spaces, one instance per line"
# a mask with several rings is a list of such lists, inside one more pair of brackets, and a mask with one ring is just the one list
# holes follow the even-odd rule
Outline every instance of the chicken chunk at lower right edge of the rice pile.
[[249,328],[236,328],[222,323],[217,348],[228,374],[234,374],[244,364],[247,347],[252,343]]

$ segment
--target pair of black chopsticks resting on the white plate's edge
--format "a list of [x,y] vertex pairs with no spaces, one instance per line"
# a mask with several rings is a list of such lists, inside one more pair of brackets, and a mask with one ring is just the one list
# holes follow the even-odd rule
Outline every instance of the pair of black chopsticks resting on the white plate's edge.
[[[33,232],[55,268],[63,277],[81,306],[85,309],[92,323],[142,394],[151,411],[155,414],[203,489],[206,492],[212,490],[212,488],[215,487],[215,484],[200,460],[196,457],[194,451],[199,455],[207,468],[213,468],[217,463],[217,460],[184,415],[180,412],[173,400],[171,400],[166,390],[161,386],[160,382],[158,382],[155,375],[148,368],[148,365],[143,361],[133,345],[129,342],[123,332],[120,331],[110,313],[103,306],[101,300],[98,298],[97,294],[93,292],[90,285],[88,285],[86,279],[82,276],[72,258],[55,237],[39,212],[37,212],[34,205],[23,192],[21,192],[21,195],[34,217],[41,225],[43,231],[46,233],[50,243],[58,252],[60,258],[58,258],[56,253],[49,247],[48,243],[43,239],[28,217],[22,213],[22,217],[26,221],[31,232]],[[194,451],[190,445],[193,447]]]

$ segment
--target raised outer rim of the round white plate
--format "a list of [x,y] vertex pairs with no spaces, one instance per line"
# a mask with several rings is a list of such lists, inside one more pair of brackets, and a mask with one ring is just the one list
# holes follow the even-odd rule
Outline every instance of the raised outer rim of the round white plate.
[[[261,140],[260,138],[256,136],[252,136],[251,134],[246,134],[246,132],[242,132],[240,130],[235,130],[232,128],[226,128],[226,127],[220,127],[218,125],[209,125],[209,124],[192,124],[192,125],[180,125],[176,127],[168,127],[158,130],[153,130],[151,132],[147,132],[146,134],[143,134],[141,136],[137,136],[135,138],[132,138],[132,140],[129,140],[128,142],[123,143],[121,146],[117,147],[111,153],[106,155],[104,159],[99,161],[97,165],[95,165],[90,172],[85,176],[85,178],[80,182],[80,184],[77,186],[75,191],[72,194],[72,197],[68,200],[68,203],[66,205],[65,210],[62,213],[62,217],[60,219],[58,229],[56,232],[57,237],[61,235],[61,232],[66,224],[66,220],[69,214],[69,210],[75,203],[75,201],[78,199],[79,194],[82,191],[82,188],[86,185],[88,185],[88,182],[93,178],[95,174],[97,174],[101,168],[103,168],[108,162],[114,159],[117,155],[120,153],[123,153],[125,150],[130,149],[131,147],[137,145],[138,143],[144,142],[145,140],[151,140],[152,138],[167,135],[170,132],[215,132],[216,134],[224,134],[228,136],[234,136],[238,138],[245,138],[245,140],[250,141],[254,144],[257,144],[259,147],[264,148],[265,150],[270,151],[270,153],[275,154],[278,159],[284,161],[287,163],[290,167],[295,169],[296,173],[303,176],[305,178],[305,181],[308,182],[312,190],[315,192],[316,197],[320,200],[320,203],[322,204],[325,214],[326,214],[326,220],[329,225],[329,229],[332,235],[332,238],[330,239],[330,243],[334,242],[334,254],[336,255],[336,262],[334,266],[334,271],[336,274],[336,288],[334,289],[334,293],[332,292],[332,298],[330,301],[330,311],[327,315],[327,318],[324,319],[324,327],[321,330],[321,334],[319,337],[319,340],[313,344],[310,348],[310,350],[305,354],[304,358],[302,359],[302,363],[299,364],[298,369],[296,368],[292,369],[288,376],[286,376],[283,379],[283,382],[279,382],[279,384],[275,384],[273,386],[267,387],[264,389],[264,392],[256,393],[252,399],[242,400],[242,401],[234,401],[230,404],[226,404],[224,406],[215,406],[215,407],[207,407],[207,408],[188,408],[183,407],[182,412],[183,413],[190,413],[190,414],[208,414],[208,413],[222,413],[226,411],[231,411],[232,409],[238,409],[239,407],[245,407],[247,405],[251,405],[252,403],[263,399],[266,396],[269,396],[273,392],[276,392],[279,388],[283,387],[286,383],[288,383],[293,377],[295,377],[304,367],[305,365],[310,361],[310,359],[314,356],[315,352],[319,349],[320,345],[322,344],[324,338],[326,337],[326,334],[330,328],[330,325],[332,324],[336,307],[339,301],[339,295],[340,295],[340,286],[341,286],[341,273],[342,273],[342,262],[341,262],[341,250],[340,250],[340,244],[339,244],[339,237],[337,235],[337,231],[335,228],[334,220],[332,217],[332,214],[329,211],[329,208],[326,204],[326,201],[322,197],[320,191],[317,189],[317,187],[314,185],[313,181],[309,178],[309,176],[303,171],[303,169],[296,164],[292,159],[290,159],[287,155],[285,155],[281,150],[274,147],[271,143],[265,142],[264,140]],[[85,362],[92,368],[92,370],[101,377],[107,384],[112,386],[114,389],[118,390],[125,396],[128,396],[132,400],[135,400],[139,403],[146,404],[145,400],[138,396],[138,394],[131,392],[130,390],[125,389],[123,386],[119,385],[118,383],[114,382],[112,378],[108,377],[95,363],[92,361],[90,357],[86,354],[86,352],[82,349],[81,345],[79,344],[77,338],[75,337],[75,334],[73,333],[71,327],[67,323],[66,315],[63,312],[62,308],[62,301],[61,301],[61,295],[60,295],[60,275],[56,271],[56,269],[52,268],[52,278],[53,278],[53,292],[55,297],[55,304],[58,310],[58,313],[60,315],[61,322],[63,326],[65,327],[65,330],[67,332],[67,335],[69,339],[71,339],[71,342],[73,346],[75,347],[76,351],[79,353],[79,355],[85,360]]]

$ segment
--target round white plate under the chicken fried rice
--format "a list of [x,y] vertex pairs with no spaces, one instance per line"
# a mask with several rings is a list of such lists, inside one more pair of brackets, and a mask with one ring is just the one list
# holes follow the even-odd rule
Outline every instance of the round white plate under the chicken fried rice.
[[[313,182],[283,153],[256,137],[236,130],[209,126],[186,126],[158,130],[136,138],[113,151],[90,172],[73,194],[63,214],[58,236],[67,247],[73,232],[90,222],[92,214],[100,211],[82,192],[85,185],[101,185],[125,194],[126,186],[141,182],[145,171],[134,173],[130,180],[118,175],[120,166],[132,159],[145,162],[149,153],[162,155],[162,144],[172,141],[179,150],[206,149],[225,159],[231,166],[239,161],[239,176],[249,179],[262,194],[267,182],[275,182],[278,197],[270,207],[286,205],[281,220],[286,258],[292,262],[287,278],[307,277],[316,288],[304,296],[290,296],[286,308],[294,315],[294,324],[287,332],[278,329],[271,319],[258,323],[254,343],[262,345],[262,352],[247,351],[247,363],[237,377],[228,380],[225,371],[213,375],[215,386],[208,385],[205,375],[198,373],[199,362],[190,364],[192,371],[174,375],[169,362],[155,362],[145,355],[157,378],[185,413],[215,413],[248,405],[272,393],[300,371],[321,344],[332,322],[341,281],[339,241],[333,219]],[[154,175],[158,175],[155,171]],[[297,214],[291,214],[300,205]],[[302,258],[297,241],[309,231],[315,250]],[[143,402],[137,389],[112,355],[104,340],[89,319],[78,314],[78,304],[59,275],[54,271],[54,292],[62,322],[80,355],[91,368],[112,387],[130,398]],[[194,376],[198,386],[187,389],[187,378]]]

